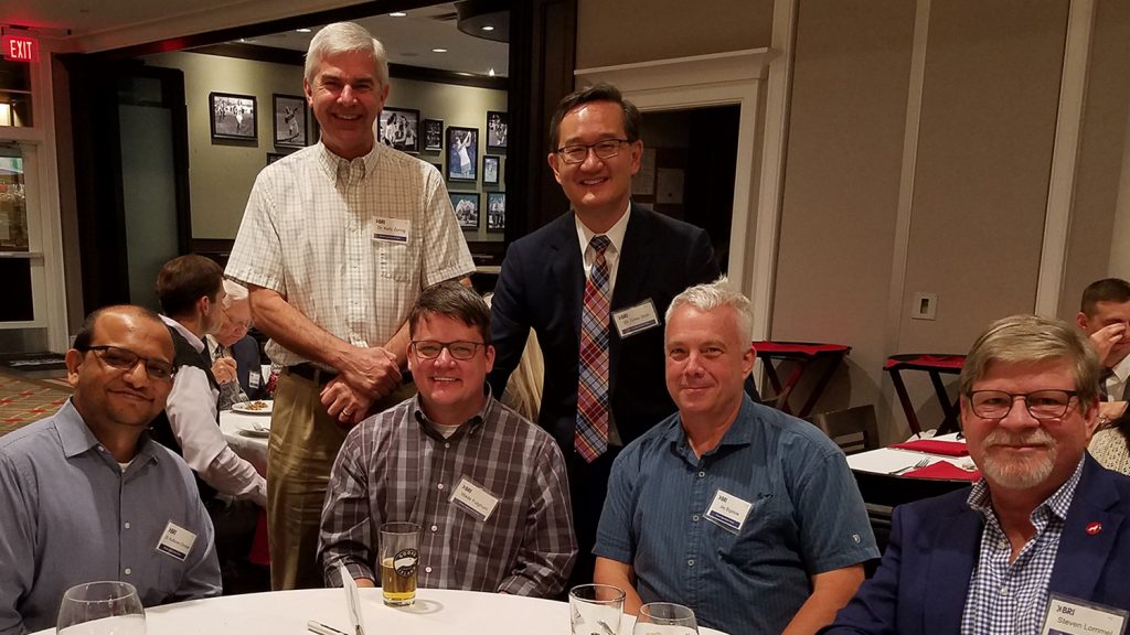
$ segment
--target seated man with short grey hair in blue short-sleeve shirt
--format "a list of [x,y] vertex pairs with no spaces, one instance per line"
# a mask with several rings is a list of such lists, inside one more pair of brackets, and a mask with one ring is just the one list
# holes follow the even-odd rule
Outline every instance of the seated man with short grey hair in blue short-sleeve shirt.
[[690,607],[729,633],[815,633],[879,556],[843,452],[816,426],[758,406],[749,299],[724,278],[667,310],[678,406],[616,458],[594,581]]

